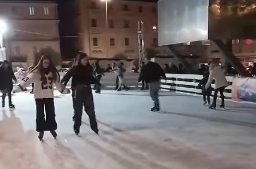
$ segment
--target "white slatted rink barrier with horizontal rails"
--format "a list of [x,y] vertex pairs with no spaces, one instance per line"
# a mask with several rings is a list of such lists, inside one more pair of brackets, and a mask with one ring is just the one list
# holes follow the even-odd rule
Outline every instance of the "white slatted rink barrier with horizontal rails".
[[[198,88],[200,80],[203,75],[200,74],[166,74],[167,82],[161,80],[162,91],[175,91],[178,93],[187,93],[189,95],[202,95],[202,87]],[[227,99],[231,99],[231,89],[233,76],[226,76],[229,86],[224,90],[224,96]],[[215,84],[212,83],[212,88],[215,88]],[[212,92],[212,96],[213,96]],[[218,97],[220,94],[218,93]]]

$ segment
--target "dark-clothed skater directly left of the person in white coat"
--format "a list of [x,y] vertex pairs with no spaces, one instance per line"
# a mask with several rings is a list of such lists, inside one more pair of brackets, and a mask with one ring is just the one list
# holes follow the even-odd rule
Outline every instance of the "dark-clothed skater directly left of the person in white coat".
[[[208,81],[209,78],[209,72],[204,72],[203,78],[200,80],[198,87],[202,87],[202,95],[203,95],[203,101],[204,101],[204,105],[206,105],[208,103],[208,105],[210,105],[210,95],[212,94],[212,85],[210,85],[210,87],[208,87],[208,89],[205,89],[205,85]],[[206,97],[207,97],[207,101],[206,101]]]

